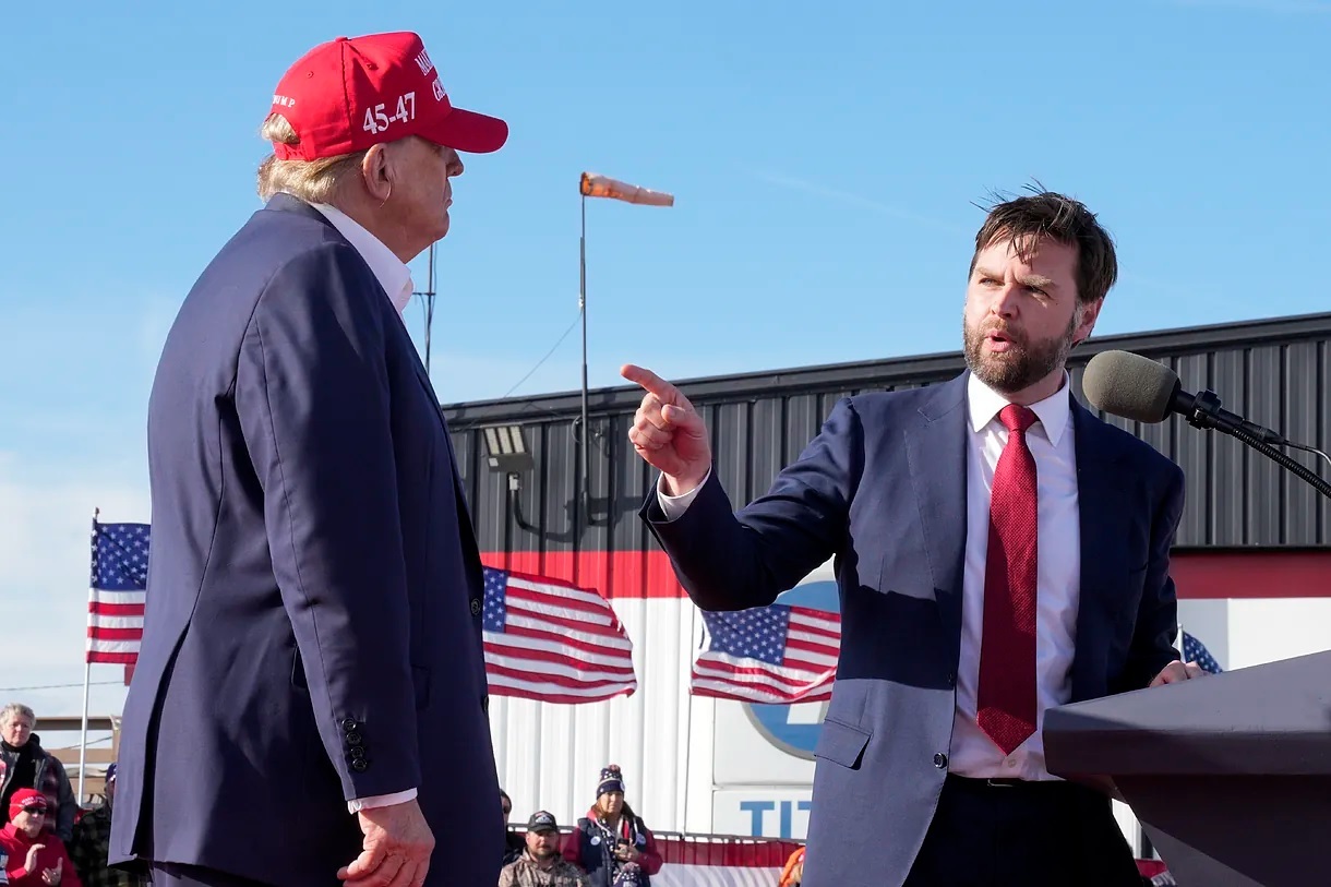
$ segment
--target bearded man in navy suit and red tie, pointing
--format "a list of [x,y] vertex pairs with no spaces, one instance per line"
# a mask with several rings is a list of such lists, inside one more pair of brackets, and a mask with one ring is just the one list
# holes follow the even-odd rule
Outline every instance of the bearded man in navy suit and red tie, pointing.
[[837,682],[804,887],[1138,884],[1109,798],[1051,776],[1040,721],[1201,671],[1173,649],[1183,475],[1071,397],[1065,362],[1117,278],[1079,202],[996,205],[964,310],[969,370],[841,400],[732,513],[688,398],[650,370],[630,430],[643,518],[705,610],[767,606],[828,558]]

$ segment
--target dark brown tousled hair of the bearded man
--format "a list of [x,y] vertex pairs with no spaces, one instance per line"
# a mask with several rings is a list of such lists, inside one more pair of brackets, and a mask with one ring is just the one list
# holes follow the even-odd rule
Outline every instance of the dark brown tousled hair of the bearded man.
[[[1049,237],[1054,242],[1077,249],[1077,301],[1087,305],[1109,293],[1118,280],[1118,258],[1114,240],[1086,204],[1063,194],[1028,188],[1030,196],[997,200],[988,206],[985,224],[976,233],[976,252],[970,257],[970,273],[982,249],[1001,240],[1012,240],[1022,260],[1026,260]],[[981,209],[985,209],[981,206]]]

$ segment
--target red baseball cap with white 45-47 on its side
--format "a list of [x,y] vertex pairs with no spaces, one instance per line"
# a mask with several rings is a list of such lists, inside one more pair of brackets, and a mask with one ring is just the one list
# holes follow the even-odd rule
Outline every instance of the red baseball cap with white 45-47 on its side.
[[299,144],[278,160],[317,160],[421,136],[469,153],[499,150],[508,124],[454,108],[421,37],[410,31],[338,37],[305,53],[277,84],[273,109]]

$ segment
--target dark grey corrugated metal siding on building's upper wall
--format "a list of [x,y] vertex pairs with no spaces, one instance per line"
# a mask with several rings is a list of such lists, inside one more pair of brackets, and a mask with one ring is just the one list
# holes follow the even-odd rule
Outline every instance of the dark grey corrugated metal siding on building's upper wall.
[[[1073,361],[1075,393],[1081,372],[1099,350],[1135,350],[1169,364],[1189,390],[1210,388],[1225,408],[1283,430],[1292,440],[1331,449],[1331,314],[1146,336],[1109,337]],[[717,473],[736,505],[767,490],[783,465],[816,434],[837,397],[862,390],[916,388],[950,378],[960,354],[776,373],[692,380],[681,388],[704,412]],[[604,389],[591,397],[592,525],[575,533],[579,509],[578,397],[556,394],[446,408],[478,525],[482,549],[640,551],[648,535],[636,510],[648,471],[627,445],[638,392]],[[1331,543],[1331,505],[1294,475],[1238,441],[1202,432],[1173,417],[1134,426],[1106,417],[1149,441],[1183,466],[1187,509],[1182,546],[1308,546]],[[486,470],[479,428],[522,424],[536,458],[524,478],[520,510],[539,534],[516,527],[507,482]],[[1291,453],[1312,470],[1331,474],[1311,454]],[[608,561],[607,561],[608,563]],[[571,577],[606,587],[608,575]]]

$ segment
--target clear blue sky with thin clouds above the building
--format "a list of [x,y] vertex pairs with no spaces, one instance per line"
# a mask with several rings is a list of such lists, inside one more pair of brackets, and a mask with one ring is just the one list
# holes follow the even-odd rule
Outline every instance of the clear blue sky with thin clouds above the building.
[[[11,689],[83,679],[92,510],[149,519],[162,338],[258,208],[278,77],[338,35],[418,31],[512,128],[438,252],[449,402],[508,393],[575,321],[584,169],[676,196],[588,205],[592,385],[954,349],[973,201],[1032,178],[1118,240],[1099,333],[1328,308],[1331,3],[55,8],[5,12],[0,143],[0,695],[48,714],[79,689]],[[514,393],[578,384],[575,330]]]

